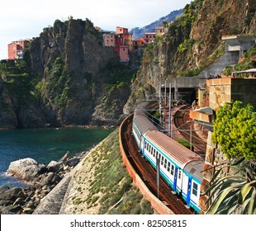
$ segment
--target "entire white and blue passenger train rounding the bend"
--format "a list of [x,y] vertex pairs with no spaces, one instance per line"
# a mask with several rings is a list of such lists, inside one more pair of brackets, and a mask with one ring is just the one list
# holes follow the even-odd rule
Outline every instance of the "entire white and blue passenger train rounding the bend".
[[[199,197],[204,159],[159,130],[145,111],[145,101],[135,108],[132,135],[144,158],[157,169],[170,190],[183,198],[185,204],[200,213]],[[157,161],[158,160],[158,161]]]

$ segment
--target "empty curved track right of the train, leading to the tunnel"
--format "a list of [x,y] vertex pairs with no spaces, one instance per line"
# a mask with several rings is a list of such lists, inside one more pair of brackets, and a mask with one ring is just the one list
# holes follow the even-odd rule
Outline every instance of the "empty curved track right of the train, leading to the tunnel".
[[[204,156],[206,153],[206,142],[202,140],[194,130],[191,130],[191,123],[189,121],[189,108],[183,106],[181,110],[175,112],[173,116],[173,122],[180,134],[187,140],[192,138],[192,145],[195,148],[195,152]],[[191,134],[192,133],[192,134]]]

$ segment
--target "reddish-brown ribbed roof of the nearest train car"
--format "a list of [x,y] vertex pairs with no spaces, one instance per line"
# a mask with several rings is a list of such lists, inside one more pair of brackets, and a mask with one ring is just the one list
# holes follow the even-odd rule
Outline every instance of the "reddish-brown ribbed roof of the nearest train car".
[[203,158],[197,155],[197,153],[192,152],[184,147],[183,144],[179,144],[162,132],[157,130],[147,131],[145,132],[145,138],[153,142],[157,148],[166,153],[182,169],[188,163],[192,163],[192,161],[203,162]]

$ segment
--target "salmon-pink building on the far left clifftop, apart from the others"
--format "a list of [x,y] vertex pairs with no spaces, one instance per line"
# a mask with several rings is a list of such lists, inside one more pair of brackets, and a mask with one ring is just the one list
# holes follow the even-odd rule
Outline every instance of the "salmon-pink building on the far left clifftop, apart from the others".
[[30,40],[13,41],[8,45],[8,59],[23,59],[24,50]]

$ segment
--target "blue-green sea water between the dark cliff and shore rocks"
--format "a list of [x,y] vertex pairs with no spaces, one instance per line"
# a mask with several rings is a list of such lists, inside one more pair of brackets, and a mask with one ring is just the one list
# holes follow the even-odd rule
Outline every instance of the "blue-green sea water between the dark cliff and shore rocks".
[[20,179],[7,174],[12,161],[33,158],[47,165],[68,151],[71,156],[88,151],[113,130],[81,127],[0,130],[0,186],[27,187]]

